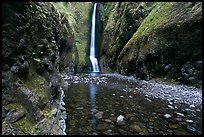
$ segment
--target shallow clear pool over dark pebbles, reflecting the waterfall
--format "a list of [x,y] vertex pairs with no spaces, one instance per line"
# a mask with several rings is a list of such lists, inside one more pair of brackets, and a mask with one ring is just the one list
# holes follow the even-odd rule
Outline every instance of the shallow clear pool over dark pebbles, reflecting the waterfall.
[[[65,91],[68,135],[202,134],[201,109],[124,90],[140,86],[128,80],[79,79],[70,78]],[[118,123],[120,115],[124,119]]]

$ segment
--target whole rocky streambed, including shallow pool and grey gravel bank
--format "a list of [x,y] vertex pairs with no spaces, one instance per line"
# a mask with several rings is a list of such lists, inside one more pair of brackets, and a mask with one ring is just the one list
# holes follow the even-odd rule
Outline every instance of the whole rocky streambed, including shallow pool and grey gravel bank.
[[202,89],[119,74],[63,78],[68,135],[202,134]]

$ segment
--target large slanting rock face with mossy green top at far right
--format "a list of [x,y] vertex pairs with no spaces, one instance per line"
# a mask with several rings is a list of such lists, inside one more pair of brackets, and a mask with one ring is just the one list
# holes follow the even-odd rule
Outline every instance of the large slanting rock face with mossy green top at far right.
[[118,71],[201,84],[201,31],[202,3],[156,3],[120,53]]

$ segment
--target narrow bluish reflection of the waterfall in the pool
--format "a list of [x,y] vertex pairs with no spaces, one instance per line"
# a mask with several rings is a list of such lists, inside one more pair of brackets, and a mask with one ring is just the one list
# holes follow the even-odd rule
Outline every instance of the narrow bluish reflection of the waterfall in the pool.
[[91,103],[91,112],[92,112],[92,126],[93,130],[96,131],[96,93],[97,86],[95,84],[89,84],[89,94],[90,94],[90,103]]

